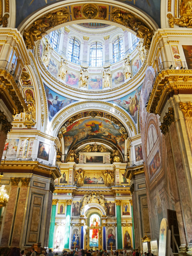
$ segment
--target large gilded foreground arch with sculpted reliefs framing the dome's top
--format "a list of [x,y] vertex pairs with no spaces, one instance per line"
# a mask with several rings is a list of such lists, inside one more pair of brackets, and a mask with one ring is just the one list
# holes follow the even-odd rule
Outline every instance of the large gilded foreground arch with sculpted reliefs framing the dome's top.
[[[109,15],[101,14],[100,7],[106,6],[106,12]],[[74,15],[74,7],[81,6],[80,19]],[[87,15],[87,10],[92,9],[92,13]],[[73,15],[70,14],[73,13]],[[138,38],[144,40],[146,48],[150,47],[154,31],[157,30],[157,24],[146,14],[127,4],[112,1],[109,5],[107,1],[100,3],[86,2],[86,4],[75,1],[65,1],[64,4],[51,4],[42,8],[40,11],[26,18],[18,27],[24,36],[27,48],[33,48],[36,42],[54,29],[64,25],[77,24],[85,22],[102,22],[119,26],[123,29],[132,31]]]

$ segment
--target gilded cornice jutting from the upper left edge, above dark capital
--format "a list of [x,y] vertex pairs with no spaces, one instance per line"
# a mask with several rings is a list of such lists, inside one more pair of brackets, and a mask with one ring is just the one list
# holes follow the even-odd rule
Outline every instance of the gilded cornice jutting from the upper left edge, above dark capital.
[[7,104],[12,110],[12,114],[19,114],[27,109],[24,98],[18,88],[13,76],[7,70],[0,69],[0,90]]

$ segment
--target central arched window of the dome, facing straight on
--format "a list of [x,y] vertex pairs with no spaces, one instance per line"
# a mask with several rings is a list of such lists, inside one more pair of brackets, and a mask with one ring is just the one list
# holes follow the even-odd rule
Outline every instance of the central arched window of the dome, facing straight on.
[[95,42],[90,47],[89,65],[92,67],[102,66],[103,47],[102,44]]

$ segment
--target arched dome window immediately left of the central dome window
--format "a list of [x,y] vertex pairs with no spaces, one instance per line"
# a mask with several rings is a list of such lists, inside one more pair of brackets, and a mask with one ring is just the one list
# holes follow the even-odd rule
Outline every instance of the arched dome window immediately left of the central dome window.
[[76,64],[79,64],[79,55],[80,42],[75,37],[72,37],[69,40],[68,59]]

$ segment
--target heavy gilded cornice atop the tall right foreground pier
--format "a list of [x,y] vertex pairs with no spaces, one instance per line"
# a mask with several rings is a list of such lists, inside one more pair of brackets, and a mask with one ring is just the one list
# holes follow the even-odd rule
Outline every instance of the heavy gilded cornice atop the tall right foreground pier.
[[168,94],[174,90],[192,90],[191,70],[168,69],[158,74],[146,110],[160,115]]

